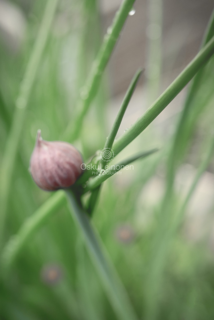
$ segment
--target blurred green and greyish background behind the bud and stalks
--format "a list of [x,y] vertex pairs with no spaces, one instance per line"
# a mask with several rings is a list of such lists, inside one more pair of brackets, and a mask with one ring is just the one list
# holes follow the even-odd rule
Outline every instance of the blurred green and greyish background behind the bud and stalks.
[[[120,3],[59,1],[22,128],[4,245],[50,196],[35,185],[28,170],[36,132],[41,129],[45,140],[63,136]],[[0,0],[1,158],[45,4],[41,0]],[[134,8],[85,117],[80,138],[72,141],[85,161],[103,148],[137,68],[145,67],[146,71],[118,136],[199,51],[213,2],[137,0]],[[140,150],[160,148],[157,154],[135,163],[133,170],[104,183],[92,218],[139,319],[214,319],[213,157],[181,210],[213,134],[213,71],[212,58],[204,68],[181,132],[182,151],[167,210],[160,208],[168,158],[188,88],[118,155],[117,160]],[[174,219],[178,219],[176,228]],[[10,275],[1,276],[0,319],[117,319],[66,202],[23,247]]]

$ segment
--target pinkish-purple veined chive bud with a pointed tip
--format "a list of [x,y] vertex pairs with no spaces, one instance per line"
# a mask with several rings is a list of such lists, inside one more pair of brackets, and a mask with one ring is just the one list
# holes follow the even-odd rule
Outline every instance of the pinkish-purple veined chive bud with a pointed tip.
[[39,188],[53,191],[72,186],[81,175],[82,157],[70,143],[46,141],[37,132],[30,159],[30,172]]

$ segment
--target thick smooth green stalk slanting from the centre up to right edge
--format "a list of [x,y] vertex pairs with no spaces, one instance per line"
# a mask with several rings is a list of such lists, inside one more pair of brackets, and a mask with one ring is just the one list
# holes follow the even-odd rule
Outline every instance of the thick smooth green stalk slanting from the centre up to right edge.
[[213,53],[214,37],[201,49],[151,107],[113,144],[116,154],[132,142],[167,107],[200,68],[208,62]]

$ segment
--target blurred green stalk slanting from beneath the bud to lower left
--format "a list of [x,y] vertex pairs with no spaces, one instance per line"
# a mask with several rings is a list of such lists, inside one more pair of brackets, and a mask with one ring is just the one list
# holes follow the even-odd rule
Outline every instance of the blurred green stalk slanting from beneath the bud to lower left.
[[65,204],[65,200],[64,192],[57,191],[32,216],[25,220],[19,232],[7,242],[1,254],[1,267],[5,275],[10,272],[13,262],[30,237],[39,230],[52,213]]

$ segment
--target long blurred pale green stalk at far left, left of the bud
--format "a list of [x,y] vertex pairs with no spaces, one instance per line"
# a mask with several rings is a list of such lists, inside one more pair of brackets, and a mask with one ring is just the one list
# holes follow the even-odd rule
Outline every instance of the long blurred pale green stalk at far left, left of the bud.
[[45,44],[47,42],[47,37],[56,11],[57,3],[58,0],[49,0],[47,2],[41,26],[39,28],[39,33],[32,49],[26,72],[20,85],[18,98],[15,103],[13,121],[6,141],[6,147],[0,168],[0,247],[2,245],[4,236],[4,224],[8,196],[26,109],[28,107],[28,101],[36,78],[39,63],[41,61],[42,53],[44,52]]

